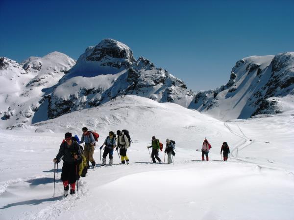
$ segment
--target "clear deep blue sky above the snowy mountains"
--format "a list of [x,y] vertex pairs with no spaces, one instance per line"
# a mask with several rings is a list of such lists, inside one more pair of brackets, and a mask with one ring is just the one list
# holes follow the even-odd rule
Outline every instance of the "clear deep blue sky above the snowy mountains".
[[112,38],[193,90],[227,83],[251,55],[294,51],[294,1],[0,0],[0,56],[77,59]]

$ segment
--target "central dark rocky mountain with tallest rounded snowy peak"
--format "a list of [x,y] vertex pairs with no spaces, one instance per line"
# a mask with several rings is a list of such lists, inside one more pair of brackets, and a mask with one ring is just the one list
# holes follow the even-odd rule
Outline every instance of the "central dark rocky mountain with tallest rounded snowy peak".
[[194,93],[167,70],[149,60],[135,60],[130,48],[104,39],[88,47],[49,97],[49,118],[99,106],[121,95],[136,94],[188,107]]

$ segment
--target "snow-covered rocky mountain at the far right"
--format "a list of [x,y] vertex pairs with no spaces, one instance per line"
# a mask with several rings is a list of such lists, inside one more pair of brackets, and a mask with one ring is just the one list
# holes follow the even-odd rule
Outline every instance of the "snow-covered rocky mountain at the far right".
[[294,100],[294,52],[239,60],[226,85],[197,93],[190,107],[228,120],[283,112],[283,106],[289,107],[285,104],[287,100],[291,106]]

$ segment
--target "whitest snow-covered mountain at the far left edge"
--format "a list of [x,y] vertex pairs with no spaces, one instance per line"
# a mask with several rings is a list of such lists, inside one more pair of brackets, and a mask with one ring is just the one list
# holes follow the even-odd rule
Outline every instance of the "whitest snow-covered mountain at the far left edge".
[[[46,101],[44,96],[74,64],[72,58],[59,52],[30,57],[22,63],[0,57],[1,128],[30,124]],[[46,119],[44,112],[42,118]]]

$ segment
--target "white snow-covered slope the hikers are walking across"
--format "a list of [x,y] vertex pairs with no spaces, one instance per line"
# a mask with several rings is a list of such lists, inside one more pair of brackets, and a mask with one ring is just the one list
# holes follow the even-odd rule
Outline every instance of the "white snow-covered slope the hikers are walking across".
[[[282,100],[282,103],[289,103]],[[286,105],[286,104],[285,104]],[[100,167],[99,149],[110,130],[128,129],[129,165],[117,153]],[[100,134],[78,193],[63,198],[54,165],[65,132]],[[151,136],[175,140],[174,164],[152,164]],[[173,103],[127,95],[34,126],[0,130],[0,219],[22,220],[293,220],[294,112],[221,122]],[[210,161],[201,161],[206,137]],[[221,161],[228,142],[231,155]],[[164,160],[164,153],[159,156]],[[165,158],[167,161],[167,158]],[[108,162],[108,157],[107,157]]]

